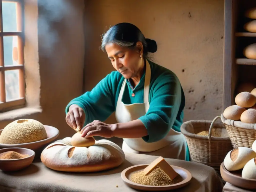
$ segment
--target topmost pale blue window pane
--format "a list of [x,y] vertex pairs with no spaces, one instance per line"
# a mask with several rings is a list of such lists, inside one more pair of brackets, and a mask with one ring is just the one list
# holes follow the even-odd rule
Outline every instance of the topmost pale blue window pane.
[[16,22],[16,3],[3,2],[3,31],[14,32],[17,31]]

